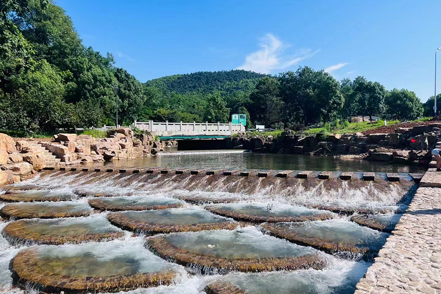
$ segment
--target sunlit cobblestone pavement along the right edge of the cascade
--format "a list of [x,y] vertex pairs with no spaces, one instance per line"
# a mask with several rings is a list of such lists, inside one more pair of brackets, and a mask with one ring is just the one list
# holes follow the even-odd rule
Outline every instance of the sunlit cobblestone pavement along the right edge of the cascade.
[[355,294],[441,294],[441,172],[426,172]]

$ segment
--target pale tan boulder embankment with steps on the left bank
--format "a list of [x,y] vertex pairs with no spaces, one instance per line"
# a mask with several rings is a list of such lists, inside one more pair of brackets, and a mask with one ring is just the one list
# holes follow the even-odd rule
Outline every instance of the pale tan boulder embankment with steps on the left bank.
[[107,138],[57,134],[54,140],[18,140],[0,133],[0,186],[24,181],[47,167],[65,167],[104,160],[136,159],[163,151],[161,142],[130,128],[107,131]]

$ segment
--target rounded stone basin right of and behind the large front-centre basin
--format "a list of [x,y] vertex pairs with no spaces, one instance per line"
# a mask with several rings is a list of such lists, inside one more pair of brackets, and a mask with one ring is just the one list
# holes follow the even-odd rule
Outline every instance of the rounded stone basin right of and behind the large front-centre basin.
[[349,252],[370,254],[381,249],[389,234],[336,219],[301,223],[264,223],[272,235],[299,245],[309,245],[328,253]]

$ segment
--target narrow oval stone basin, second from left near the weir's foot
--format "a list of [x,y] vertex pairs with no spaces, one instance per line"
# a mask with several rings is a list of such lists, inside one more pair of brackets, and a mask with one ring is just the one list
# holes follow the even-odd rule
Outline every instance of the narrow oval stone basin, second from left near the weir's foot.
[[172,198],[139,196],[100,197],[89,200],[89,205],[99,210],[156,210],[182,206],[182,201]]

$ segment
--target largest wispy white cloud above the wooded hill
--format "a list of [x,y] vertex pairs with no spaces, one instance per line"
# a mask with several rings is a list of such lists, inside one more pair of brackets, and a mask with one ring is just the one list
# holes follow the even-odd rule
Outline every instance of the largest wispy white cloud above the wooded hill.
[[247,55],[245,63],[237,69],[257,73],[271,73],[275,70],[283,70],[294,66],[318,52],[312,52],[311,49],[304,49],[294,56],[285,56],[283,52],[288,45],[270,33],[260,39],[259,47],[261,49]]

